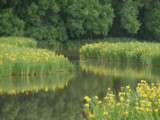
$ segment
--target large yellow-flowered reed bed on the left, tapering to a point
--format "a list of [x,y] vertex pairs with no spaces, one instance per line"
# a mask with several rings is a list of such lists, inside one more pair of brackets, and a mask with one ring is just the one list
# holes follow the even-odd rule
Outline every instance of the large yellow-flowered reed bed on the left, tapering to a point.
[[72,69],[69,60],[55,52],[0,44],[0,76],[50,75]]

